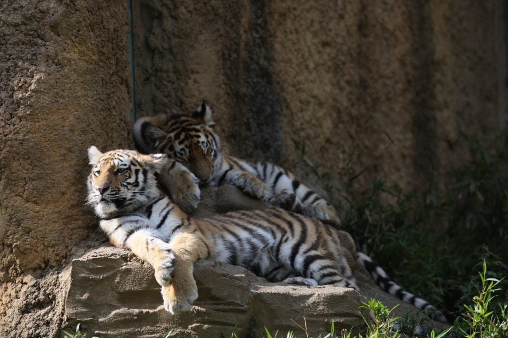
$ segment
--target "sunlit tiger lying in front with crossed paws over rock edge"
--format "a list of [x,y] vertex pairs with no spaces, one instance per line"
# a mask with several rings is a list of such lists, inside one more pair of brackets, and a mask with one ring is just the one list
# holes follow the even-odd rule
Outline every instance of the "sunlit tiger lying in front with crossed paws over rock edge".
[[[235,211],[194,219],[157,186],[155,173],[176,161],[135,150],[102,153],[88,148],[87,204],[100,218],[111,245],[129,249],[154,269],[164,309],[181,314],[198,297],[198,259],[240,265],[269,282],[349,287],[360,291],[337,231],[314,217],[280,208]],[[427,301],[403,290],[370,257],[357,261],[388,293],[446,318]]]

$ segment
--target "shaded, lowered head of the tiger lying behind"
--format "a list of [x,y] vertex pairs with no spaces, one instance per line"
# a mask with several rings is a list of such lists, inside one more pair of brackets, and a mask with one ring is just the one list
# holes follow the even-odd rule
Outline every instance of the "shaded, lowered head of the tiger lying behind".
[[190,116],[168,112],[140,119],[134,130],[136,147],[145,153],[167,154],[186,166],[200,184],[208,183],[222,155],[211,114],[203,104]]

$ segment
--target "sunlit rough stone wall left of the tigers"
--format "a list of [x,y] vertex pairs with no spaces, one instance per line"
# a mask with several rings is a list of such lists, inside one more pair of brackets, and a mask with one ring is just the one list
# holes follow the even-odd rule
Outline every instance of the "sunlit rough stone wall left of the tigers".
[[129,145],[128,34],[124,0],[0,3],[2,337],[58,332],[53,269],[97,237],[86,149]]

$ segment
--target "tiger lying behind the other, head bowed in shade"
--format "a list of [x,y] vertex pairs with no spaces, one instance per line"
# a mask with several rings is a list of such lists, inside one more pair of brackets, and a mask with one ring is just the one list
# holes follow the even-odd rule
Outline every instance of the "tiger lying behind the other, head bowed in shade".
[[250,163],[224,155],[214,124],[212,110],[205,103],[191,115],[167,110],[134,124],[138,151],[164,153],[176,160],[162,171],[160,181],[183,211],[191,213],[197,208],[199,185],[232,184],[276,207],[340,225],[333,206],[292,173],[272,163]]

